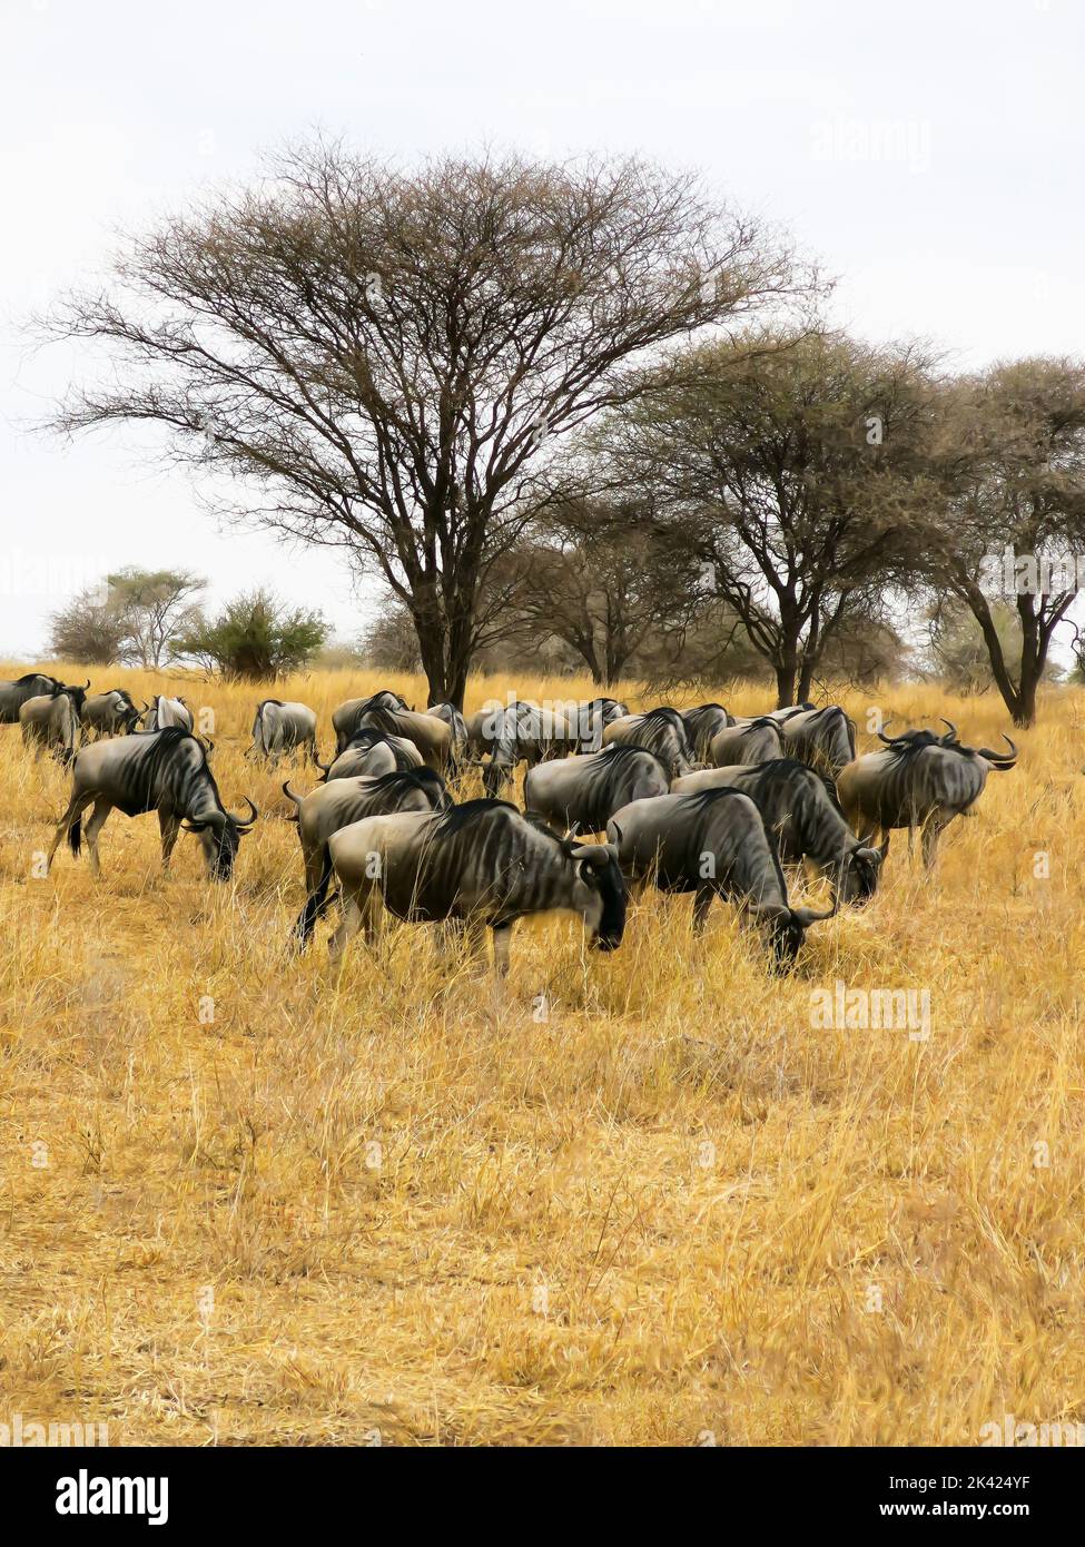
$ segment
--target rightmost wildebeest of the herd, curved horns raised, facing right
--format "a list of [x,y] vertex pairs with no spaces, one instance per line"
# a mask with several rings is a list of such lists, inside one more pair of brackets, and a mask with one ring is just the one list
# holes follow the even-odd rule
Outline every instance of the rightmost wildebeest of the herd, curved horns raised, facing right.
[[1005,774],[1017,763],[1017,747],[1003,736],[1009,755],[989,747],[963,747],[947,719],[944,736],[933,730],[905,730],[899,736],[878,732],[885,747],[850,763],[837,780],[844,815],[856,832],[885,834],[893,828],[922,832],[922,862],[930,869],[938,854],[938,835],[953,817],[966,815],[983,794],[987,774]]

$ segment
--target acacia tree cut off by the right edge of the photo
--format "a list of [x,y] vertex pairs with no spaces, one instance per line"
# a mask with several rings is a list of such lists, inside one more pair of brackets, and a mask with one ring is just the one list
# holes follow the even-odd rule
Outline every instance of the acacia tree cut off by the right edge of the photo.
[[969,608],[1014,724],[1031,726],[1085,558],[1085,365],[1025,359],[953,382],[940,429],[927,580]]

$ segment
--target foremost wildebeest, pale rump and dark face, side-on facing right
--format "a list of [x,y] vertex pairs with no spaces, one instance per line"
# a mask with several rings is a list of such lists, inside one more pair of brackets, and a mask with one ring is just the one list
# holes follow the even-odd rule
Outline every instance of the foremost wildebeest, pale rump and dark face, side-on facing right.
[[344,916],[330,941],[337,961],[365,927],[376,934],[381,905],[412,924],[450,922],[472,950],[494,934],[494,965],[509,967],[517,919],[576,913],[588,944],[616,950],[625,925],[625,885],[614,849],[571,843],[503,800],[469,800],[432,815],[367,817],[333,834],[331,860]]

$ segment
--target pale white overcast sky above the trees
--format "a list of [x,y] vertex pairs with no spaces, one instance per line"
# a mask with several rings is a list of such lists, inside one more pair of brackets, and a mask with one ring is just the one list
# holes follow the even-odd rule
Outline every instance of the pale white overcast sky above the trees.
[[65,594],[186,565],[367,614],[342,560],[220,531],[132,432],[26,425],[77,376],[20,323],[262,149],[314,128],[404,159],[483,144],[698,167],[839,277],[836,317],[963,367],[1085,340],[1080,0],[2,0],[0,653]]

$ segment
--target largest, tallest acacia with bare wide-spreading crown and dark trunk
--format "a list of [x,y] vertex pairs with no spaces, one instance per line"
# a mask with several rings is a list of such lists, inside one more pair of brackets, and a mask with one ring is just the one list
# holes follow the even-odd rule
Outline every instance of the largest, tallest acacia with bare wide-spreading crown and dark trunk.
[[404,173],[320,142],[268,172],[62,305],[54,334],[119,370],[59,424],[153,421],[228,475],[221,509],[348,549],[409,608],[430,696],[460,704],[556,441],[630,401],[645,351],[794,289],[792,265],[638,161]]

